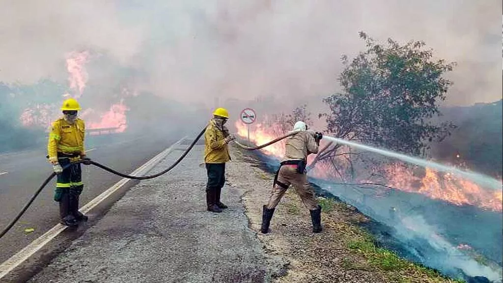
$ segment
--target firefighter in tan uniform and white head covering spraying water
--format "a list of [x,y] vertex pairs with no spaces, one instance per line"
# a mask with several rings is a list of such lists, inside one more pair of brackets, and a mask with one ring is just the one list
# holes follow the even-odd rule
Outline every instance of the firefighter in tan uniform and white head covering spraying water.
[[278,205],[290,185],[295,187],[302,202],[309,209],[313,232],[319,233],[322,230],[321,206],[316,200],[313,188],[307,181],[305,168],[307,156],[318,153],[319,141],[323,135],[320,132],[307,131],[307,125],[302,121],[296,122],[293,130],[298,131],[298,133],[286,140],[285,157],[276,173],[271,197],[267,205],[263,207],[261,232],[264,234],[269,232],[269,224],[276,205]]

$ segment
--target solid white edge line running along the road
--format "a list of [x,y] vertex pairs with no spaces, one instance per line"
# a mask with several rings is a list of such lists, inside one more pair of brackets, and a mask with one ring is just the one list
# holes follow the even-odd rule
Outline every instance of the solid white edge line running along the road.
[[[165,149],[164,151],[162,151],[158,155],[154,156],[152,159],[147,161],[145,164],[138,167],[138,169],[136,169],[130,175],[132,175],[132,176],[145,175],[148,171],[150,171],[155,166],[155,164],[157,164],[160,160],[162,160],[167,155],[169,155],[173,151],[175,146],[180,145],[180,143],[186,138],[187,137],[180,139],[178,142],[173,144],[171,147]],[[99,196],[97,196],[96,198],[94,198],[93,200],[88,202],[86,205],[82,206],[79,209],[80,212],[83,214],[88,213],[91,209],[96,207],[104,199],[106,199],[108,196],[110,196],[115,191],[117,191],[122,186],[124,186],[129,180],[130,179],[123,178],[119,182],[115,183],[115,185],[111,186],[106,191],[101,193]],[[7,275],[9,272],[11,272],[14,268],[16,268],[18,265],[23,263],[30,256],[32,256],[34,253],[36,253],[38,250],[40,250],[42,247],[44,247],[45,244],[49,243],[52,239],[54,239],[57,235],[59,235],[59,233],[63,232],[63,230],[65,230],[66,228],[67,227],[62,224],[59,224],[59,223],[56,224],[56,226],[51,228],[44,235],[35,239],[28,246],[24,247],[21,251],[19,251],[18,253],[13,255],[11,258],[9,258],[8,260],[6,260],[2,264],[0,264],[0,279],[2,279],[5,275]]]

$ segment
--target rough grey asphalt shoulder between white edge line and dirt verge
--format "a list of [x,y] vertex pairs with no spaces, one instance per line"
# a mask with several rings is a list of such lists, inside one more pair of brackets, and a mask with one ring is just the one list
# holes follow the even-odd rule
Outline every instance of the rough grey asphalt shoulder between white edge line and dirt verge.
[[[149,174],[173,164],[186,148],[175,147]],[[228,168],[233,173],[222,200],[229,207],[209,213],[203,153],[199,145],[170,174],[142,181],[38,274],[8,282],[251,283],[283,274],[286,261],[267,255],[248,228],[242,203],[248,187],[229,184],[250,174],[249,166]]]

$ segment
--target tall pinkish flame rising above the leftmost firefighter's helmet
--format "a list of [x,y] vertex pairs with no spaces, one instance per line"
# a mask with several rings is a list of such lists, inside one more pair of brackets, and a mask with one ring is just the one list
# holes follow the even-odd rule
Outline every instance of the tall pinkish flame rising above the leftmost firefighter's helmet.
[[75,98],[79,98],[82,95],[84,87],[88,82],[88,73],[84,67],[88,56],[88,51],[73,51],[66,54],[66,69],[70,74],[68,78],[70,88],[78,91],[78,93],[75,94]]

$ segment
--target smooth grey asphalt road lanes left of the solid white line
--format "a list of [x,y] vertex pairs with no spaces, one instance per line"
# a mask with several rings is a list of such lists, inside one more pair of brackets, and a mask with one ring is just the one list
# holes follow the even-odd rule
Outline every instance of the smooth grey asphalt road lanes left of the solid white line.
[[[151,136],[89,136],[86,150],[93,160],[119,172],[131,173],[176,140],[176,137],[154,139]],[[0,230],[9,225],[52,173],[52,167],[45,156],[45,147],[0,155]],[[80,197],[80,207],[120,179],[121,177],[95,166],[82,165],[84,190]],[[55,184],[56,178],[53,178],[18,223],[0,239],[0,263],[59,222],[59,206],[53,200]],[[25,232],[28,228],[35,231]]]

